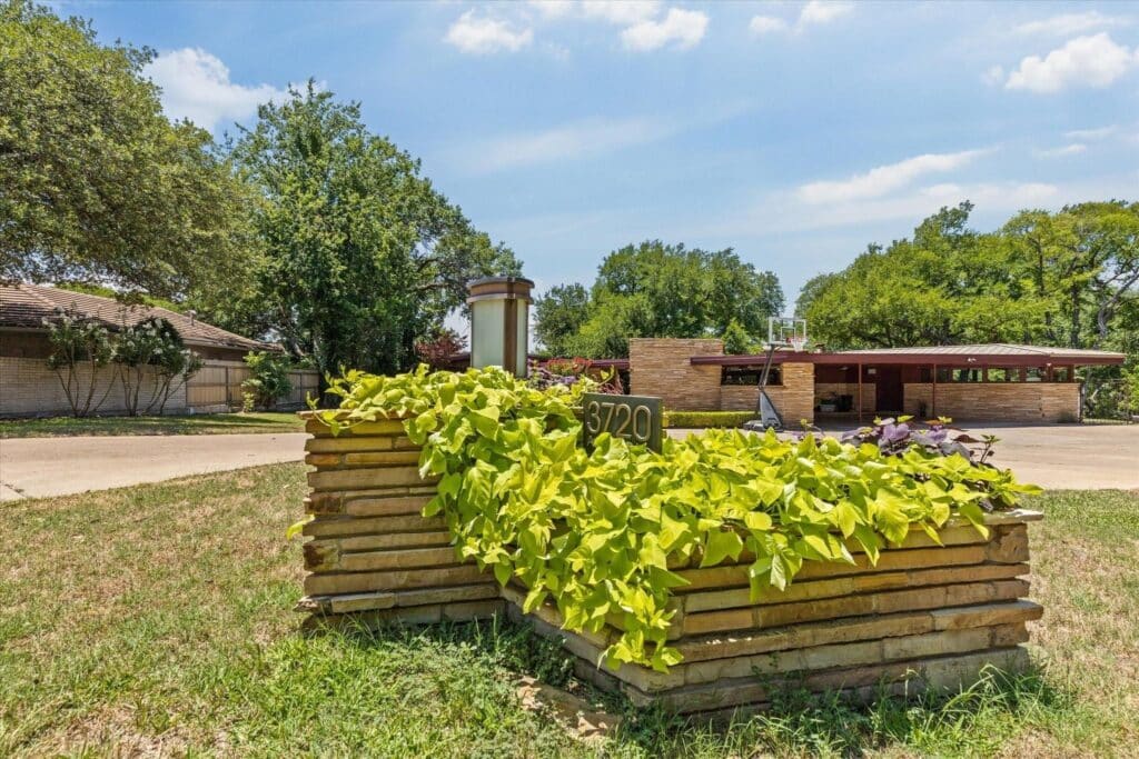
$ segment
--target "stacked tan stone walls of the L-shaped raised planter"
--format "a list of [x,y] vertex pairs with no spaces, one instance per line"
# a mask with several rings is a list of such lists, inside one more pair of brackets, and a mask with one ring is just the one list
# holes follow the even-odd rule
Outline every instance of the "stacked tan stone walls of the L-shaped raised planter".
[[[1029,593],[1026,522],[1017,511],[989,518],[990,536],[962,522],[941,531],[939,546],[910,533],[870,566],[855,545],[854,566],[808,562],[787,591],[749,599],[746,563],[678,568],[670,638],[683,661],[667,674],[625,665],[598,666],[621,626],[601,633],[560,628],[552,603],[521,611],[526,589],[500,587],[460,562],[441,518],[425,519],[434,485],[418,475],[418,449],[399,420],[370,422],[333,437],[310,420],[306,462],[313,521],[304,527],[306,596],[298,609],[325,624],[421,624],[470,620],[497,612],[525,616],[538,632],[564,641],[579,676],[624,693],[637,704],[662,702],[678,712],[763,708],[775,688],[887,690],[957,687],[985,665],[1027,663],[1025,622],[1041,608]],[[741,562],[745,558],[741,558]]]

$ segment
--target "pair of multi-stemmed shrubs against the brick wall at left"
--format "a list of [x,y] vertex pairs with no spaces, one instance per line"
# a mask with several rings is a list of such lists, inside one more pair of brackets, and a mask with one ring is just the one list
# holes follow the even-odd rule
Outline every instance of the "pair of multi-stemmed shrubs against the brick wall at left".
[[[63,308],[44,319],[51,349],[48,366],[56,372],[75,416],[97,411],[115,388],[123,391],[123,407],[131,416],[139,412],[163,413],[170,396],[203,366],[202,356],[186,347],[174,327],[162,317],[108,329],[103,322]],[[113,376],[96,401],[107,366]],[[150,381],[149,394],[144,388]]]

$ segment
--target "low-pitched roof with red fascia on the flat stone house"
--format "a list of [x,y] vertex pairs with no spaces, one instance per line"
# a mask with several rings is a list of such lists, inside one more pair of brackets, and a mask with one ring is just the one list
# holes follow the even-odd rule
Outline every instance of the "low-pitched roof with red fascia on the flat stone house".
[[[866,348],[825,353],[776,350],[772,362],[1040,366],[1043,364],[1122,364],[1125,357],[1122,353],[1112,353],[1109,350],[988,343],[982,345],[933,345],[911,348]],[[765,360],[765,354],[751,356],[693,356],[691,363],[741,366],[761,364]]]

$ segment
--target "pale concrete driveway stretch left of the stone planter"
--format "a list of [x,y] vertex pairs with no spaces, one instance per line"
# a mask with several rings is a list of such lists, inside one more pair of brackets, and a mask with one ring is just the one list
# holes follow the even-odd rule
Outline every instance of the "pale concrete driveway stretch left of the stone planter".
[[0,501],[157,482],[304,457],[304,432],[0,440]]

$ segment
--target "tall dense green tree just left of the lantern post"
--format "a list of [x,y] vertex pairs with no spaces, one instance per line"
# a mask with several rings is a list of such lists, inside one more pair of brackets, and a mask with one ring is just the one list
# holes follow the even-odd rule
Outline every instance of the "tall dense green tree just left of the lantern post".
[[416,340],[464,305],[468,280],[519,273],[418,160],[367,131],[359,104],[311,82],[262,106],[232,158],[260,196],[263,253],[231,314],[273,330],[322,374],[409,368]]

